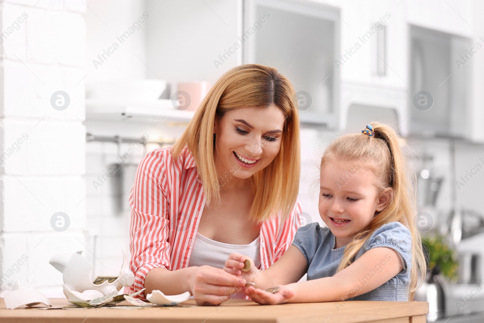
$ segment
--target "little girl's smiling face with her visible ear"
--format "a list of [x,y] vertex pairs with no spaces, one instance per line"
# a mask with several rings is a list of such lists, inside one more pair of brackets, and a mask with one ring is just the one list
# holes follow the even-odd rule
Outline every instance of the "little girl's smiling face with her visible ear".
[[333,158],[321,168],[319,215],[336,237],[335,248],[346,246],[390,203],[391,188],[378,192],[374,172],[362,165]]

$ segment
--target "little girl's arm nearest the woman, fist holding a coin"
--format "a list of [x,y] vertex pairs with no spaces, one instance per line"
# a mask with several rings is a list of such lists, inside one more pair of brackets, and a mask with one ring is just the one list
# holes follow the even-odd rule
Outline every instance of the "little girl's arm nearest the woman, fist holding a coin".
[[[252,264],[252,270],[248,273],[241,270],[246,259],[249,259]],[[294,283],[301,279],[306,273],[307,261],[302,252],[291,245],[284,255],[266,270],[257,269],[250,257],[237,253],[230,254],[225,262],[224,270],[229,274],[242,276],[246,281],[255,283],[259,289],[267,289],[275,285]]]

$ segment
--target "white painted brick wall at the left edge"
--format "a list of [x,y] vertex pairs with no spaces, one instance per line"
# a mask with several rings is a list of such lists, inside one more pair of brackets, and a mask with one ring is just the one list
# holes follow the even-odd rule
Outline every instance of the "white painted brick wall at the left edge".
[[[93,258],[83,177],[85,11],[74,0],[0,1],[0,296],[15,280],[59,295],[61,273],[48,260],[76,250]],[[63,111],[50,105],[56,91],[70,96]],[[66,231],[51,227],[56,212],[69,216]]]

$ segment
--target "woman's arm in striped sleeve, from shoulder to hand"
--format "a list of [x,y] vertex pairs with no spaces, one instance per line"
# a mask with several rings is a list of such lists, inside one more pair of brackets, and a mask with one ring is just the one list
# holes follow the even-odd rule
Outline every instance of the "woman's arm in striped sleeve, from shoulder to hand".
[[245,281],[211,266],[169,270],[168,237],[170,221],[174,219],[166,198],[169,183],[165,174],[170,166],[165,154],[166,150],[153,150],[141,160],[131,189],[130,265],[135,273],[131,289],[146,288],[145,296],[152,290],[166,295],[190,292],[198,305],[220,304]]

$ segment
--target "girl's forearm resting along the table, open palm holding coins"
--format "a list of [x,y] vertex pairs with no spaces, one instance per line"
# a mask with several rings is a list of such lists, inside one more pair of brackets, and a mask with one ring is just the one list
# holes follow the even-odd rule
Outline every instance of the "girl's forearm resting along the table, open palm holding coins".
[[395,250],[377,247],[333,277],[280,286],[281,291],[274,294],[252,286],[244,288],[244,292],[260,304],[342,301],[374,290],[402,270],[403,263]]

